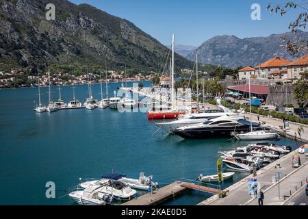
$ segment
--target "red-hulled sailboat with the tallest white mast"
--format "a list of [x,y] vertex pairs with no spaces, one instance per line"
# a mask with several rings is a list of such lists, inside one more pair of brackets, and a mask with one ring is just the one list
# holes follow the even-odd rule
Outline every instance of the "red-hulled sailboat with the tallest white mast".
[[175,107],[175,34],[172,34],[172,61],[171,61],[171,89],[170,89],[170,101],[171,101],[171,109],[166,111],[150,111],[148,112],[148,119],[165,119],[165,118],[178,118],[181,114],[186,114],[185,110],[178,110]]

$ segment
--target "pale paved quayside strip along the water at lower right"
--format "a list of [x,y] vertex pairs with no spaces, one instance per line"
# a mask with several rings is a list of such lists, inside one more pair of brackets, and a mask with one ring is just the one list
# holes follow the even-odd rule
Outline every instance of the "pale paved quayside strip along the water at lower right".
[[[294,168],[292,168],[292,156],[295,154],[297,154],[297,151],[293,151],[292,153],[285,155],[285,157],[281,157],[281,159],[278,159],[276,162],[273,162],[272,164],[269,164],[268,166],[257,171],[257,180],[259,181],[259,183],[261,183],[262,190],[265,190],[265,188],[270,188],[270,186],[274,185],[274,183],[272,182],[272,177],[275,176],[276,172],[282,172],[283,176],[287,176],[295,170]],[[308,160],[304,155],[300,155],[300,158],[302,164],[304,164]],[[277,164],[280,164],[281,168],[276,168]],[[308,172],[307,167],[308,166],[304,167],[306,173]],[[208,198],[207,200],[203,201],[199,205],[245,205],[246,203],[248,203],[248,201],[251,201],[252,199],[252,197],[248,194],[247,178],[250,177],[253,177],[253,175],[250,175],[245,179],[242,179],[238,183],[235,183],[229,188],[227,188],[226,190],[229,190],[229,192],[227,193],[227,197],[218,198],[217,195],[214,195],[211,198]],[[268,198],[270,198],[270,195],[268,195]]]

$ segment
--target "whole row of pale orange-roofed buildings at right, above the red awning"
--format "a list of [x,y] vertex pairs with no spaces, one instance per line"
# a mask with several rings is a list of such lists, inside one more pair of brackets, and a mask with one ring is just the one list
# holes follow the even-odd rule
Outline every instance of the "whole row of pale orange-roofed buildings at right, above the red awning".
[[290,62],[279,56],[255,66],[246,66],[238,72],[239,79],[300,79],[300,73],[308,70],[308,54]]

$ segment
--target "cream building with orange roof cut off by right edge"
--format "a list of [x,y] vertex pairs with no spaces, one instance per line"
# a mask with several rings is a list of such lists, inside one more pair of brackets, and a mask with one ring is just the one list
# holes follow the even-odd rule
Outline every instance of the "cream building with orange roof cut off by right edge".
[[308,70],[308,54],[287,66],[285,79],[300,79],[300,73],[303,73],[305,70]]

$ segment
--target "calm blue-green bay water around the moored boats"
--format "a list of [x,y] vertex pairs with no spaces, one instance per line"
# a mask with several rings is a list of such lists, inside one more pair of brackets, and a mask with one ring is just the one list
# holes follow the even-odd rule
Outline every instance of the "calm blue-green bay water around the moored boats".
[[[145,83],[150,86],[150,83]],[[128,84],[131,86],[131,83]],[[110,84],[110,94],[120,83]],[[47,103],[47,90],[42,99]],[[57,90],[52,88],[53,98]],[[75,88],[82,103],[88,86]],[[100,86],[93,86],[99,99]],[[112,110],[60,110],[36,114],[37,88],[0,90],[0,204],[74,205],[65,190],[77,185],[79,177],[100,177],[112,168],[129,177],[139,172],[154,175],[165,185],[181,178],[196,179],[199,174],[216,173],[218,151],[244,146],[248,142],[227,139],[182,140],[169,137],[146,119],[146,114],[120,114]],[[73,89],[62,87],[62,99],[73,99]],[[279,144],[293,148],[296,143],[282,139]],[[233,181],[245,177],[235,175]],[[55,182],[55,199],[45,197],[45,183]],[[224,187],[232,181],[225,182]],[[195,205],[207,198],[202,192],[188,192],[166,205]]]

